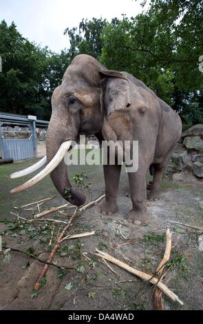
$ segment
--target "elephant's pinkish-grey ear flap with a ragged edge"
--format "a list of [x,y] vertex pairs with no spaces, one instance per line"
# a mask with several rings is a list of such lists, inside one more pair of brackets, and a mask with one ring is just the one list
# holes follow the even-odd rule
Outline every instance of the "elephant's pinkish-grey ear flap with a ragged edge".
[[129,107],[129,81],[125,72],[114,70],[100,71],[100,103],[108,117],[115,110],[125,110]]

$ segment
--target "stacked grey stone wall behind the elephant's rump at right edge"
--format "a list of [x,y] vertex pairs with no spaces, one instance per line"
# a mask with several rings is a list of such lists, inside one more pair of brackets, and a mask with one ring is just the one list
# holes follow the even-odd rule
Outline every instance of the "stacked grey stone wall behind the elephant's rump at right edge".
[[203,181],[202,124],[194,125],[182,133],[166,173],[173,174],[173,181]]

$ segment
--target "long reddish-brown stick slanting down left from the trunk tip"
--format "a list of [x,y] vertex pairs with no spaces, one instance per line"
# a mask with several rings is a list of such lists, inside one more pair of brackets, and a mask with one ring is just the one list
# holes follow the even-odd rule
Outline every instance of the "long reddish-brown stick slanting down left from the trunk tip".
[[63,231],[61,232],[61,234],[58,236],[58,239],[56,241],[56,245],[54,246],[52,252],[50,253],[50,256],[48,257],[47,259],[47,264],[45,264],[45,266],[43,267],[43,270],[41,271],[41,274],[39,275],[36,283],[34,284],[34,289],[35,290],[39,290],[39,287],[40,287],[40,283],[41,283],[41,279],[43,279],[43,276],[45,276],[46,272],[47,272],[47,269],[49,267],[49,264],[50,262],[52,262],[52,259],[54,257],[54,254],[56,253],[56,250],[58,249],[59,247],[59,243],[61,242],[61,240],[63,239],[63,236],[65,234],[65,231],[67,231],[72,223],[72,221],[74,220],[76,214],[77,214],[77,211],[78,211],[78,207],[76,207],[76,209],[74,210],[74,214],[71,216],[70,218],[70,221],[67,223],[67,225],[65,225],[65,227],[63,228]]

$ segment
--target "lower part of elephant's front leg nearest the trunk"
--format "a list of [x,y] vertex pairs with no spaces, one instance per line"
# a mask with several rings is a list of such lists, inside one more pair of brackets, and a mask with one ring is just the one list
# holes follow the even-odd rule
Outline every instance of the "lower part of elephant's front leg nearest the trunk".
[[116,199],[121,165],[103,165],[103,170],[105,174],[105,202],[100,205],[98,211],[105,215],[111,215],[118,211]]

